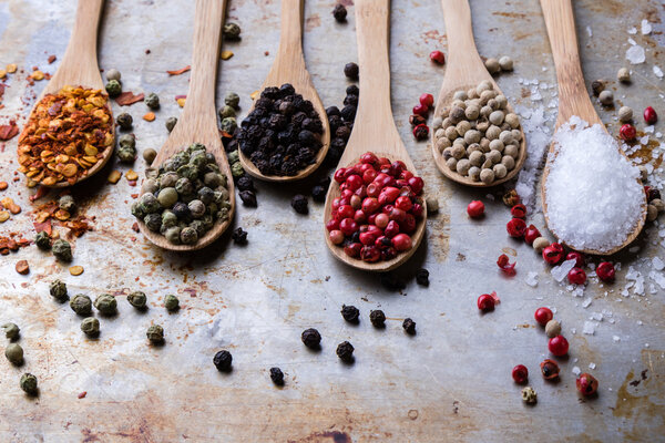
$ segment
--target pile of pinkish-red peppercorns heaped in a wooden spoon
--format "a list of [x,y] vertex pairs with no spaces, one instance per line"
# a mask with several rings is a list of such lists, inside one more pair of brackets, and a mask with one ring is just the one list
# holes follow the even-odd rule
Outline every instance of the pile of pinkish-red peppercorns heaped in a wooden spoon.
[[411,249],[411,234],[422,220],[422,178],[403,162],[372,153],[350,167],[335,172],[340,196],[331,204],[326,223],[334,245],[362,261],[390,260]]

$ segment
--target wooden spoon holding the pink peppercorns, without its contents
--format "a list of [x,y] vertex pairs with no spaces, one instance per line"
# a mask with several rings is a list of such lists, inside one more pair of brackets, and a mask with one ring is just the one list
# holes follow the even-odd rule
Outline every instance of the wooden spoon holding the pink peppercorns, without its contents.
[[[402,161],[407,168],[418,175],[409,157],[390,107],[390,65],[388,60],[390,30],[390,0],[356,0],[356,33],[358,35],[358,65],[360,68],[360,96],[358,111],[354,123],[354,131],[349,137],[344,155],[339,159],[339,167],[350,166],[358,162],[366,152],[374,152],[379,157],[387,157],[391,162]],[[339,184],[332,182],[326,196],[324,214],[326,222],[330,219],[332,200],[339,197]],[[427,222],[427,207],[423,200],[422,219],[411,234],[412,247],[400,253],[391,260],[381,260],[374,264],[351,258],[344,253],[344,248],[336,246],[324,228],[326,243],[335,257],[355,268],[369,271],[387,271],[395,269],[413,255],[424,236]]]

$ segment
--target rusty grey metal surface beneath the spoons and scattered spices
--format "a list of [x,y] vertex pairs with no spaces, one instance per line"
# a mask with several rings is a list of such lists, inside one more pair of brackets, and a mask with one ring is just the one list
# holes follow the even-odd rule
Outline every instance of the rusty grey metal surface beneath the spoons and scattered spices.
[[[330,16],[334,3],[306,6],[305,54],[326,105],[344,99],[341,69],[356,54],[352,7],[348,24],[340,25]],[[83,212],[96,216],[94,231],[74,245],[73,265],[84,266],[82,276],[70,276],[66,266],[35,247],[0,258],[0,321],[21,327],[25,350],[22,368],[0,361],[1,441],[618,442],[656,441],[665,434],[665,290],[655,285],[655,293],[647,289],[643,297],[621,295],[631,265],[646,276],[653,271],[646,258],[663,257],[662,228],[649,227],[638,249],[620,257],[622,270],[614,285],[591,282],[582,297],[559,286],[526,245],[507,238],[509,214],[498,198],[500,190],[492,203],[485,193],[446,181],[427,145],[415,143],[407,122],[410,107],[420,93],[436,93],[443,74],[427,60],[432,49],[444,49],[443,12],[438,1],[392,3],[393,112],[427,192],[441,203],[440,214],[428,220],[427,240],[398,274],[412,276],[426,267],[431,272],[429,288],[409,279],[401,293],[391,292],[377,276],[339,264],[321,238],[323,205],[310,204],[308,216],[289,207],[299,185],[258,185],[258,208],[239,207],[235,219],[249,231],[246,247],[234,246],[226,236],[194,255],[163,253],[131,229],[129,205],[137,189],[124,177],[117,185],[105,183],[110,171],[126,171],[109,165],[100,177],[74,189]],[[228,14],[241,23],[243,41],[223,48],[235,55],[221,62],[217,103],[222,94],[236,91],[243,112],[249,107],[248,95],[263,82],[276,53],[278,7],[277,1],[229,1]],[[27,87],[24,78],[32,65],[54,71],[58,61],[49,65],[47,58],[63,53],[73,11],[73,1],[0,2],[0,64],[13,62],[28,70],[8,82],[0,111],[3,123],[17,113],[23,123],[30,97],[44,85]],[[647,48],[647,63],[633,66],[634,84],[615,96],[640,113],[648,104],[664,110],[658,97],[662,81],[652,72],[653,64],[664,60],[659,2],[585,0],[575,2],[575,12],[587,81],[613,80],[632,37]],[[555,85],[555,75],[538,2],[477,0],[472,13],[480,53],[515,60],[515,72],[498,81],[509,100],[523,106],[523,115],[529,109],[544,110],[548,119],[532,138],[544,137],[553,126],[555,102],[549,102],[555,100],[555,89],[542,83]],[[186,1],[108,2],[100,66],[119,69],[125,90],[154,91],[162,99],[153,123],[141,120],[146,112],[142,103],[123,109],[134,117],[140,151],[158,147],[167,135],[164,121],[178,113],[173,96],[186,93],[187,74],[168,78],[165,71],[190,63],[192,19],[193,7]],[[640,27],[642,19],[653,23],[653,33],[628,35],[626,30]],[[532,100],[532,85],[523,79],[539,81],[542,101]],[[120,110],[114,107],[115,113]],[[613,123],[611,112],[601,117]],[[662,127],[658,123],[656,131]],[[16,143],[14,138],[0,152],[0,181],[10,183],[0,196],[14,198],[23,213],[0,225],[0,233],[31,237],[31,192],[22,179],[11,182]],[[659,163],[659,147],[654,150],[656,158],[649,153],[648,159]],[[540,163],[531,162],[532,167]],[[137,159],[134,168],[143,167]],[[662,179],[662,169],[657,174]],[[309,185],[301,185],[301,192]],[[464,213],[473,198],[488,206],[480,223]],[[543,226],[542,215],[534,223]],[[519,274],[512,279],[500,276],[494,265],[502,249],[516,255]],[[14,271],[19,259],[30,262],[28,276]],[[525,284],[528,272],[538,272],[536,287]],[[120,315],[102,319],[100,338],[89,340],[79,330],[80,319],[49,296],[48,284],[54,278],[65,280],[70,293],[93,297],[144,290],[150,309],[137,313],[119,295]],[[648,284],[653,281],[647,278],[647,288]],[[479,316],[475,298],[492,290],[501,305]],[[168,292],[181,298],[178,313],[168,315],[161,306]],[[587,308],[585,299],[592,300]],[[342,303],[360,308],[359,326],[341,320]],[[533,327],[532,315],[543,305],[556,309],[571,342],[562,380],[554,384],[538,374],[546,338]],[[377,307],[390,318],[385,330],[368,321],[369,310]],[[604,320],[595,334],[584,334],[593,312],[604,312]],[[406,317],[418,323],[416,337],[402,332]],[[146,343],[151,322],[164,326],[164,347]],[[301,346],[299,334],[308,327],[321,332],[321,352]],[[352,365],[335,356],[344,340],[356,347]],[[233,352],[231,374],[212,364],[221,348]],[[531,371],[531,385],[539,393],[533,408],[522,404],[520,388],[510,378],[518,363]],[[590,363],[595,363],[594,370],[589,370]],[[274,365],[286,373],[284,389],[274,388],[268,378]],[[600,380],[596,399],[577,396],[574,367]],[[24,371],[39,378],[37,399],[18,387]],[[83,391],[86,396],[78,399]]]

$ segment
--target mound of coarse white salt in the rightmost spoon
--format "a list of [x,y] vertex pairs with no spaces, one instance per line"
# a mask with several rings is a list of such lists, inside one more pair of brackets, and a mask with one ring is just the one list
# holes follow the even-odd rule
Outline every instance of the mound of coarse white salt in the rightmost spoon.
[[548,226],[575,249],[610,251],[642,218],[640,169],[600,124],[573,116],[554,135],[545,182]]

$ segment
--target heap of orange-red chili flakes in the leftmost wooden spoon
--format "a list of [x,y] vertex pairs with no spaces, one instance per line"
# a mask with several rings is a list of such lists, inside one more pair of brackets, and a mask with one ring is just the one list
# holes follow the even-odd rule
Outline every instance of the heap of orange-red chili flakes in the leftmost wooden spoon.
[[109,99],[100,90],[64,86],[37,104],[19,137],[19,172],[52,186],[74,184],[113,145]]

